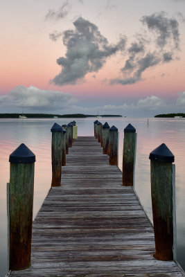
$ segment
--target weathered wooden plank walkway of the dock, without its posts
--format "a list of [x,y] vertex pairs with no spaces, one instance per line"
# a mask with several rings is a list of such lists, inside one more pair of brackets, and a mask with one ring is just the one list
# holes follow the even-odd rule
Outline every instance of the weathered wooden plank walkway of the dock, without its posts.
[[78,137],[33,222],[31,266],[13,276],[184,276],[153,257],[154,232],[132,187],[94,137]]

